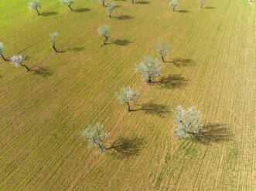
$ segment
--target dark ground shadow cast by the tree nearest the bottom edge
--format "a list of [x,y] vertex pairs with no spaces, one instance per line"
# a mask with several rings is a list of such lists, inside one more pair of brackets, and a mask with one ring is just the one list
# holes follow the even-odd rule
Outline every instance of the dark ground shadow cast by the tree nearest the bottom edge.
[[114,141],[111,147],[107,149],[114,149],[114,152],[111,155],[119,159],[137,156],[138,152],[142,149],[142,139],[120,138]]

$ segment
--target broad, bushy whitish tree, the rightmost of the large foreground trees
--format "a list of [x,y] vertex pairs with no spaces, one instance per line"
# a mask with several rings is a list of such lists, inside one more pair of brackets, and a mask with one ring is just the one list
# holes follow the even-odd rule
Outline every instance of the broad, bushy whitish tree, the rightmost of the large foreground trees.
[[196,107],[185,110],[182,106],[177,106],[174,110],[176,130],[174,136],[177,139],[186,139],[189,135],[199,136],[203,130],[202,114]]

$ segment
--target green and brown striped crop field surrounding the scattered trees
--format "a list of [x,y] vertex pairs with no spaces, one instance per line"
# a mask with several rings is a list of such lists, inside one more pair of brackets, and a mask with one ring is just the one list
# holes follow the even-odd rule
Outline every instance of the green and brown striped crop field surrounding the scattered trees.
[[[247,0],[115,1],[113,18],[96,0],[69,8],[42,0],[1,0],[5,56],[26,55],[38,72],[0,61],[0,190],[254,190],[256,188],[256,11]],[[107,0],[107,4],[110,3]],[[101,47],[99,25],[111,27]],[[49,33],[59,32],[50,49]],[[172,51],[152,85],[134,72],[155,43]],[[114,93],[141,98],[128,113]],[[204,114],[200,140],[179,142],[171,109]],[[79,130],[102,122],[105,156]]]

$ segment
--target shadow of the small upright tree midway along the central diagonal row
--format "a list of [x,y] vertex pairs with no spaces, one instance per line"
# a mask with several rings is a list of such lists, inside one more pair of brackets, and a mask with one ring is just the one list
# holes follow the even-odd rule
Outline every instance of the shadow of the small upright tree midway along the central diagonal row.
[[170,112],[170,109],[168,106],[165,106],[163,104],[148,102],[148,103],[142,104],[140,109],[133,109],[131,111],[143,111],[145,112],[145,114],[164,117],[166,116],[167,113]]

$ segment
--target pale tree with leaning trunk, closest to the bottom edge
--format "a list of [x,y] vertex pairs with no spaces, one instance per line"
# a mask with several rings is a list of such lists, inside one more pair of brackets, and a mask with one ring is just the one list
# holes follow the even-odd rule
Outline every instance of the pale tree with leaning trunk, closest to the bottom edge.
[[100,122],[95,123],[93,126],[87,126],[87,128],[80,131],[80,135],[83,139],[87,140],[90,149],[92,146],[97,146],[99,152],[104,155],[106,148],[102,142],[108,137],[107,132],[103,132],[103,125]]

